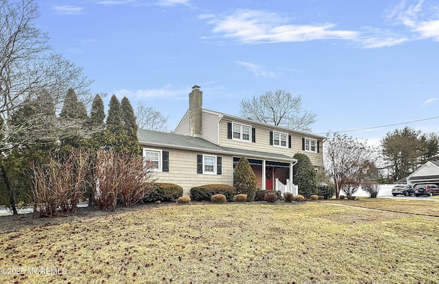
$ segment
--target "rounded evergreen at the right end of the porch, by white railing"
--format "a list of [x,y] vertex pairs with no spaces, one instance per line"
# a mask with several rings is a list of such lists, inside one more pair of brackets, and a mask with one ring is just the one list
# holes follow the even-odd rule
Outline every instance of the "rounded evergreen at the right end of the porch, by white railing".
[[296,153],[293,158],[297,159],[293,167],[293,183],[298,186],[299,194],[305,198],[318,194],[317,174],[309,157],[306,154]]

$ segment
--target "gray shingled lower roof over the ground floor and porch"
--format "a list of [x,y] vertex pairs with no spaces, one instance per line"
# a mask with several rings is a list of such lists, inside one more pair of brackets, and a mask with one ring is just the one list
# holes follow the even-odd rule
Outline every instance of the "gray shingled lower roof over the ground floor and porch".
[[292,156],[289,157],[283,154],[244,150],[231,147],[220,147],[200,137],[190,137],[167,132],[139,129],[137,130],[137,137],[142,146],[202,151],[215,154],[246,156],[246,158],[272,159],[275,161],[291,162],[295,160],[292,158]]

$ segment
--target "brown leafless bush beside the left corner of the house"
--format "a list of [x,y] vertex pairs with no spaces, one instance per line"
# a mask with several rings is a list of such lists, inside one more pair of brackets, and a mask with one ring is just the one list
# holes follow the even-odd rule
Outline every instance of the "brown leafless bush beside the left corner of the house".
[[94,196],[102,210],[109,206],[114,210],[118,200],[124,206],[136,204],[154,182],[153,171],[145,167],[142,156],[104,151],[97,152],[95,179]]

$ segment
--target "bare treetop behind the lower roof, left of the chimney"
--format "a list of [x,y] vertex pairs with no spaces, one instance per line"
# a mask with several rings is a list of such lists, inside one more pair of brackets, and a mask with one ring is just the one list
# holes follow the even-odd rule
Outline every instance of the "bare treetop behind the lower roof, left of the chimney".
[[139,128],[169,132],[167,119],[168,117],[164,117],[158,110],[154,110],[152,107],[146,107],[142,103],[137,104],[136,122]]

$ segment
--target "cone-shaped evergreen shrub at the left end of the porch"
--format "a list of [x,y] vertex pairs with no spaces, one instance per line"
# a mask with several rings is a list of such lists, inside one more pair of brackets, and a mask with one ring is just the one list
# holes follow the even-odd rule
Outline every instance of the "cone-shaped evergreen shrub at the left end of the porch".
[[254,200],[257,190],[256,176],[246,157],[241,157],[239,162],[235,165],[233,186],[236,188],[237,194],[247,194],[248,201]]

